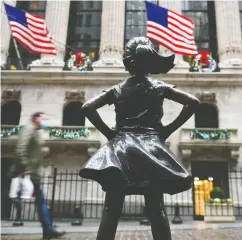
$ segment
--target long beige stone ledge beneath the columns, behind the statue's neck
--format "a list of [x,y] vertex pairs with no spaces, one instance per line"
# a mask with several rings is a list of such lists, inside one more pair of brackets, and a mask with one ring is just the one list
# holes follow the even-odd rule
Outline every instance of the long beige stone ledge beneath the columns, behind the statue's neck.
[[[12,84],[63,84],[63,85],[115,85],[128,77],[127,71],[112,72],[42,72],[2,71],[2,85]],[[242,86],[242,73],[167,73],[154,76],[156,79],[178,86]],[[165,78],[164,78],[165,77]]]

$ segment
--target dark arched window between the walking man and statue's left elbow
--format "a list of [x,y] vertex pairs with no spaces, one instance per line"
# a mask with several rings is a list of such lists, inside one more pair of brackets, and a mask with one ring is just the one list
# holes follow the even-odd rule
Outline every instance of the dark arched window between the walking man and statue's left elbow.
[[63,110],[63,126],[85,126],[85,115],[81,110],[82,103],[74,101],[68,103]]

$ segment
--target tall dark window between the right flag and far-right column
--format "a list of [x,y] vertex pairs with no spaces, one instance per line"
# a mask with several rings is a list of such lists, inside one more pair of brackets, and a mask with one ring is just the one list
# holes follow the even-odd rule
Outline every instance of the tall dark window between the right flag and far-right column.
[[212,52],[218,61],[216,14],[214,1],[183,0],[182,13],[195,24],[195,40],[199,51]]

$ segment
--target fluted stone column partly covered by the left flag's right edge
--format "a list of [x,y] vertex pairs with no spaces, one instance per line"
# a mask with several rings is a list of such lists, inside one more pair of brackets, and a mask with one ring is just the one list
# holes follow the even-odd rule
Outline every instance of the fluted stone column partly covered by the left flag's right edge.
[[30,65],[32,71],[62,71],[69,22],[70,0],[47,1],[46,24],[56,46],[57,54],[41,55]]

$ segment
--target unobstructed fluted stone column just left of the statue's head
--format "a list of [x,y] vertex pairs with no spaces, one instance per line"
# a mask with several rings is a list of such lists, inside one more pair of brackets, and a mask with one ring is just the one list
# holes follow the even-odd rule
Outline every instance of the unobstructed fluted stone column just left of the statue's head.
[[124,69],[123,45],[125,29],[125,0],[102,2],[100,59],[94,70]]

